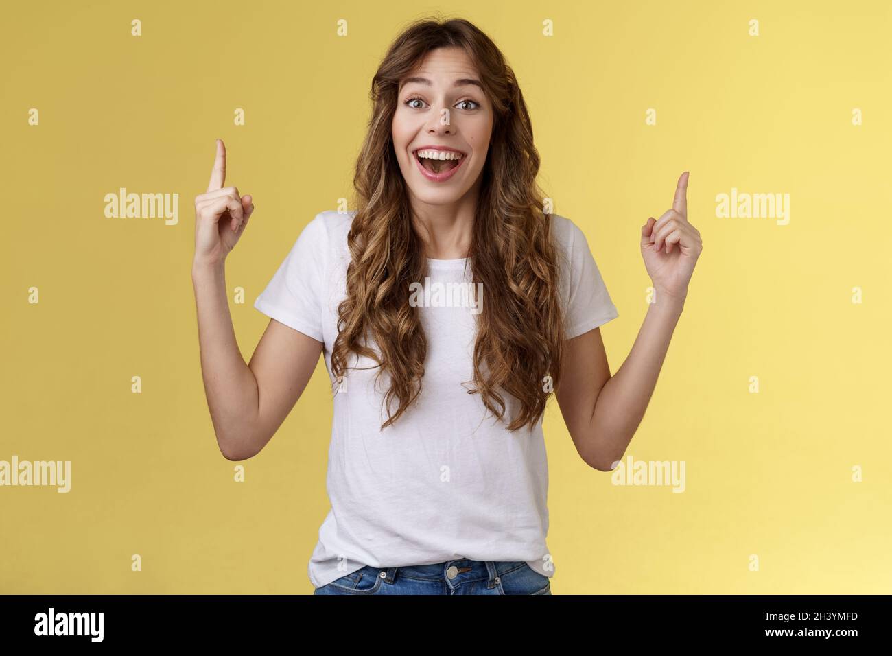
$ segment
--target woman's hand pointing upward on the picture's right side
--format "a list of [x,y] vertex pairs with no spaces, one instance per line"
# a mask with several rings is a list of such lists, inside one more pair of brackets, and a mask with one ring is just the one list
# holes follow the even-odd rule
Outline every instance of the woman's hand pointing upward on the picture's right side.
[[657,302],[664,295],[683,301],[688,283],[703,242],[700,231],[688,222],[688,177],[685,171],[678,179],[672,209],[641,227],[641,256],[657,293]]

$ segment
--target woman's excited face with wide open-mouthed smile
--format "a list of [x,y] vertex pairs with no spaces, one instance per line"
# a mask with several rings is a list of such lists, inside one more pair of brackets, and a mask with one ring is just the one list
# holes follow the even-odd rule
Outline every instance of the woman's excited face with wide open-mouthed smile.
[[432,50],[401,80],[393,148],[417,202],[456,203],[477,188],[492,133],[492,108],[479,83],[474,63],[456,47]]

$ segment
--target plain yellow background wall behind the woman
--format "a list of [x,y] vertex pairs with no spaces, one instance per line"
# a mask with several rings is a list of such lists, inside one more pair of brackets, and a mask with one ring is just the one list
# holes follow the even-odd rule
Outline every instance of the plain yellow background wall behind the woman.
[[[704,251],[627,452],[686,461],[687,489],[612,486],[550,403],[553,592],[890,592],[890,6],[11,4],[0,460],[70,460],[72,480],[69,494],[0,488],[0,591],[312,592],[326,370],[320,360],[235,483],[202,387],[194,196],[222,137],[227,184],[257,208],[227,262],[230,299],[245,290],[231,311],[247,361],[268,323],[254,298],[301,228],[351,197],[377,63],[402,26],[439,11],[474,21],[516,71],[541,184],[585,231],[619,310],[602,328],[614,372],[648,307],[640,227],[691,171]],[[105,218],[119,187],[178,193],[178,225]],[[789,193],[789,225],[717,218],[715,195],[731,187]]]

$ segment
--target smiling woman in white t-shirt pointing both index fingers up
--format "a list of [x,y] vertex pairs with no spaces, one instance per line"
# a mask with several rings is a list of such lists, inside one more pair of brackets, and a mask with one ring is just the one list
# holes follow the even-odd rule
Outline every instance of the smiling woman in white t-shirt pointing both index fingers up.
[[371,97],[355,209],[303,228],[254,303],[270,321],[248,364],[224,262],[254,205],[223,186],[218,140],[193,279],[220,451],[260,452],[324,353],[332,508],[315,594],[550,594],[542,413],[554,391],[583,461],[609,471],[623,457],[702,247],[688,174],[641,227],[657,303],[611,376],[599,326],[617,311],[582,230],[536,186],[530,118],[498,48],[467,21],[420,21]]

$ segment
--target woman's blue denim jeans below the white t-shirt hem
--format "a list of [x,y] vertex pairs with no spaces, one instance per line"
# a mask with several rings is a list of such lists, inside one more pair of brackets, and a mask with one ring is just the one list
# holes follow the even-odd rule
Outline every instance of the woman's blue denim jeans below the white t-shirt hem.
[[391,568],[367,565],[313,594],[551,594],[551,585],[549,577],[524,561],[465,559]]

